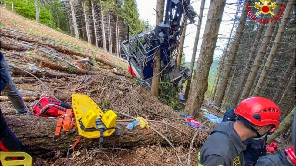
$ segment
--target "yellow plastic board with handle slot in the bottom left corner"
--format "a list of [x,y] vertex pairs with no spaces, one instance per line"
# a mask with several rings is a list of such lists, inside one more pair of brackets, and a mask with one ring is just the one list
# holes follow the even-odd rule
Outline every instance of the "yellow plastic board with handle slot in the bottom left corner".
[[[7,158],[18,157],[19,160],[7,160]],[[0,152],[0,160],[3,166],[15,166],[15,165],[32,165],[32,157],[25,152]]]

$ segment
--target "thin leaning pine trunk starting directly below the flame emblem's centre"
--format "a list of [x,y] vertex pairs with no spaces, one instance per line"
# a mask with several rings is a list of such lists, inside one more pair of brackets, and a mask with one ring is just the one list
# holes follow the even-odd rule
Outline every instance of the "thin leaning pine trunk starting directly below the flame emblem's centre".
[[[264,15],[263,20],[266,20],[266,18],[267,18],[267,16]],[[233,106],[236,106],[237,105],[238,99],[239,99],[239,97],[241,95],[241,91],[243,89],[244,82],[246,81],[246,78],[248,76],[249,68],[250,68],[251,63],[253,61],[253,57],[254,57],[254,55],[255,55],[255,53],[257,51],[257,47],[258,47],[259,40],[261,38],[261,34],[263,32],[263,29],[264,29],[264,24],[261,24],[260,25],[260,28],[258,30],[258,34],[256,36],[256,39],[254,41],[254,44],[253,44],[253,47],[252,47],[252,50],[251,50],[251,53],[250,53],[248,62],[247,62],[247,64],[244,67],[243,74],[241,75],[240,84],[238,85],[237,90],[235,91],[235,95],[234,95],[234,98],[233,98],[233,101],[232,101],[232,105]]]

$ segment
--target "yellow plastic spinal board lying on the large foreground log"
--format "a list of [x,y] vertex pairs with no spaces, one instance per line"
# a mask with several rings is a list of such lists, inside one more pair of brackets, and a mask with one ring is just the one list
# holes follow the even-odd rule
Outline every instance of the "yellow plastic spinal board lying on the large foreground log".
[[[80,128],[80,122],[78,121],[89,110],[93,110],[93,112],[96,113],[97,118],[99,118],[99,119],[101,119],[103,121],[102,117],[104,116],[104,112],[93,101],[93,99],[91,99],[87,95],[72,94],[72,107],[73,107],[74,115],[75,115],[75,118],[76,118],[76,124],[78,126],[77,127],[78,128],[78,134],[81,135],[81,136],[83,136],[83,137],[86,137],[86,138],[99,138],[100,137],[100,131],[99,130],[83,131]],[[115,116],[113,115],[112,117],[115,117]],[[106,116],[106,118],[107,118],[107,116]],[[116,118],[117,118],[117,115],[116,115]],[[108,120],[105,120],[105,122],[107,122],[107,121]],[[115,120],[112,120],[112,121],[114,121],[114,122],[110,122],[110,124],[113,124],[115,126],[116,119]],[[83,125],[84,124],[85,123],[83,122]],[[109,129],[109,130],[104,131],[104,137],[110,136],[114,131],[115,131],[115,129]]]

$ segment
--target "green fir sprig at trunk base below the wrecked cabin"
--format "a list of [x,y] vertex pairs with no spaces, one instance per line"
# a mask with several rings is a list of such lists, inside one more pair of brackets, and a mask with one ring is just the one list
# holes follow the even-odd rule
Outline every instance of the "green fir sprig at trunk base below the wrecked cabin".
[[167,78],[162,78],[160,82],[159,99],[171,108],[177,110],[179,106],[179,97],[175,86]]

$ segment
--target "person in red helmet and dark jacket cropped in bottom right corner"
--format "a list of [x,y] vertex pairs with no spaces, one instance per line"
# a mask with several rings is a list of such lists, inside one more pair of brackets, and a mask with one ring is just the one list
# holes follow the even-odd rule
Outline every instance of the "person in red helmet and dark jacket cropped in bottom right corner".
[[294,147],[281,149],[277,155],[261,157],[256,166],[295,166],[296,157]]

